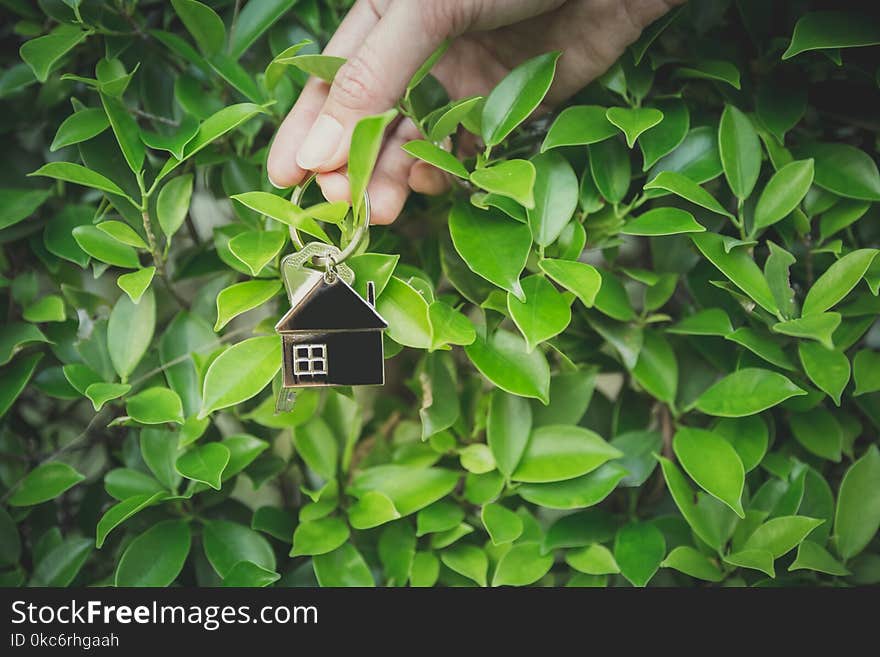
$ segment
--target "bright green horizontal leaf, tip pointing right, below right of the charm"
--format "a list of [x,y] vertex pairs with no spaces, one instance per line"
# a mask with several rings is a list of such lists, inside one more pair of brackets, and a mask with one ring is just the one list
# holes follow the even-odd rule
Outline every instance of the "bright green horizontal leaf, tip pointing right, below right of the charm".
[[571,425],[549,425],[532,432],[514,481],[546,483],[592,472],[623,453],[597,433]]

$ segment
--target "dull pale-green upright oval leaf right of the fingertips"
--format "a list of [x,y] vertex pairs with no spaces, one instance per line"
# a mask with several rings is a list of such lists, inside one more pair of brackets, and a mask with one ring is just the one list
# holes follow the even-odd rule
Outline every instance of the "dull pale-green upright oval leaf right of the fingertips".
[[528,209],[528,222],[535,243],[549,246],[577,209],[578,180],[568,160],[558,153],[536,155],[531,161],[536,172],[535,202]]

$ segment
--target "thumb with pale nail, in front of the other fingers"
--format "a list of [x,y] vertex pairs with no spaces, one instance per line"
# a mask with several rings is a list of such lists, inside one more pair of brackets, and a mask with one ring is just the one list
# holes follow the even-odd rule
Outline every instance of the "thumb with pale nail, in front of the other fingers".
[[351,133],[363,117],[394,107],[412,75],[445,38],[423,3],[392,2],[363,44],[336,73],[324,106],[297,153],[311,171],[348,161]]

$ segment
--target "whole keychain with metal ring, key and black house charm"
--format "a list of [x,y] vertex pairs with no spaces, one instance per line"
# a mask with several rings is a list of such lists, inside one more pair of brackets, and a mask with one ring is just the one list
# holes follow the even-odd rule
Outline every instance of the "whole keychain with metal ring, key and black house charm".
[[[314,178],[294,189],[293,203],[299,205]],[[290,227],[298,250],[281,260],[290,310],[275,325],[281,336],[283,374],[276,411],[292,406],[296,388],[385,382],[383,332],[388,323],[376,311],[373,281],[367,283],[364,299],[352,287],[354,272],[345,264],[365,239],[369,224],[370,199],[364,192],[363,222],[342,250],[323,242],[303,243]]]

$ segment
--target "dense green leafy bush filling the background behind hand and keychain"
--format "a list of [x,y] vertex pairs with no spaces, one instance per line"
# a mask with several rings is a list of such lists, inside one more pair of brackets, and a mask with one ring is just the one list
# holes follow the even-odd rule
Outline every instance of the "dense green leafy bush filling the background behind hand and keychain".
[[388,382],[275,414],[266,144],[344,3],[2,4],[2,583],[880,581],[877,16],[695,0],[525,127],[555,53],[424,77]]

